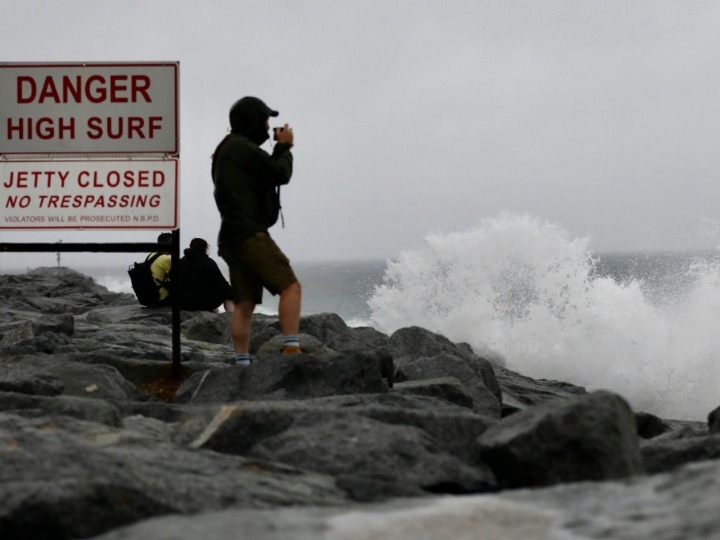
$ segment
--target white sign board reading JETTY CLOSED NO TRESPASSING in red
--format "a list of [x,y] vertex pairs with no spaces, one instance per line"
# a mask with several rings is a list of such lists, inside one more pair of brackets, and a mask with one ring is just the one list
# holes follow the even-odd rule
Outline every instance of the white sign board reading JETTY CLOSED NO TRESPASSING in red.
[[178,160],[0,161],[2,229],[175,229]]

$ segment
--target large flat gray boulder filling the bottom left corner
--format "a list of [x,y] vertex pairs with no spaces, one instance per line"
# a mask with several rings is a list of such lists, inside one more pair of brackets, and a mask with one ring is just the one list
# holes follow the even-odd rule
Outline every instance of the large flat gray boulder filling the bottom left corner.
[[152,516],[345,501],[330,477],[148,432],[0,413],[0,538],[86,538]]

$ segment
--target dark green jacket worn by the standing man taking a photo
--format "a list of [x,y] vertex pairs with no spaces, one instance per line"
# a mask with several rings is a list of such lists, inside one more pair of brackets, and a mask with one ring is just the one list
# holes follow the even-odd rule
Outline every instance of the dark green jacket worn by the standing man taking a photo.
[[231,133],[213,156],[218,247],[267,232],[280,211],[280,186],[290,182],[293,156],[278,143],[272,155],[244,135]]

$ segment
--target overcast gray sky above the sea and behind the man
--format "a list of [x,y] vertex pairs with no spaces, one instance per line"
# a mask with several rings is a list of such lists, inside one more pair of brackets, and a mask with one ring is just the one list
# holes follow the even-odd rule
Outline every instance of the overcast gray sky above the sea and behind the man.
[[[294,260],[393,258],[529,213],[593,250],[720,245],[720,2],[5,0],[7,62],[180,62],[181,231],[256,95],[295,130]],[[0,241],[147,241],[155,232]],[[19,255],[3,255],[3,264]],[[54,262],[54,255],[44,255]],[[128,258],[128,255],[124,255]]]

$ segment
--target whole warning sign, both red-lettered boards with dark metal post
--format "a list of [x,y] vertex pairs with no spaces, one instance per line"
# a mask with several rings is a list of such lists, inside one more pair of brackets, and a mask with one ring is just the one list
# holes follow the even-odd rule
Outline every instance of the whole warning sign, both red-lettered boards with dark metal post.
[[[178,62],[0,64],[0,230],[173,231],[178,268]],[[159,244],[8,244],[134,252]],[[173,372],[180,299],[173,295]]]

